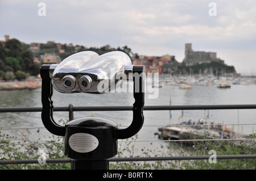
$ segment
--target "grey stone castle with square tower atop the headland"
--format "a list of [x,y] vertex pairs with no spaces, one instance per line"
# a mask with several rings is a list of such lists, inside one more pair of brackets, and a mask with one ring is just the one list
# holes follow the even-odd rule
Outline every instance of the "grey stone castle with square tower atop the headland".
[[[221,61],[220,58],[217,58],[216,52],[194,51],[191,43],[185,44],[185,58],[183,63],[186,66],[210,63],[211,61]],[[222,61],[222,63],[224,62]]]

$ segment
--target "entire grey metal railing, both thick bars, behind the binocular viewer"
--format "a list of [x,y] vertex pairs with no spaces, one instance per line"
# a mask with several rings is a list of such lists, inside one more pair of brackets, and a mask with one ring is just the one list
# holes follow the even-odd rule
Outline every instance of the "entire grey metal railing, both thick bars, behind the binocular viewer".
[[[68,111],[69,120],[73,120],[74,111],[132,111],[132,106],[90,106],[90,107],[54,107],[53,111]],[[191,106],[144,106],[144,111],[164,111],[164,110],[242,110],[256,109],[256,104],[226,104],[226,105],[191,105]],[[41,112],[42,107],[2,107],[3,112]],[[215,140],[215,139],[213,139]],[[160,141],[160,140],[159,140]],[[179,140],[187,141],[187,140]],[[112,158],[110,162],[133,162],[133,161],[176,161],[209,159],[210,155],[197,156],[177,156],[177,157],[134,157],[134,158]],[[216,155],[216,159],[255,159],[256,154],[242,155]],[[71,159],[46,159],[46,163],[70,163]],[[28,160],[5,160],[0,161],[0,165],[38,163],[37,159]]]

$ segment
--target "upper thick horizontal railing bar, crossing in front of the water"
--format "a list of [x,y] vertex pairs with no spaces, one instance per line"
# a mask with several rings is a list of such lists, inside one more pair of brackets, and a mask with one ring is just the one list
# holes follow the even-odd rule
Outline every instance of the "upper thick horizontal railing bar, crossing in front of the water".
[[[256,104],[144,106],[144,111],[164,110],[245,110],[256,109]],[[133,106],[81,106],[72,111],[132,111]],[[0,112],[41,112],[42,107],[1,107]],[[53,111],[69,111],[69,107],[54,107]]]

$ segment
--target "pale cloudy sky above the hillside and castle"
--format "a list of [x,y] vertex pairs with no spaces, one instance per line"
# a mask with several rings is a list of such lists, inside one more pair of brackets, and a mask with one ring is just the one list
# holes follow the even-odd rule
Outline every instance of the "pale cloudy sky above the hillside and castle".
[[5,35],[24,43],[127,45],[178,62],[192,43],[195,51],[217,52],[237,73],[256,75],[255,0],[1,0],[0,40]]

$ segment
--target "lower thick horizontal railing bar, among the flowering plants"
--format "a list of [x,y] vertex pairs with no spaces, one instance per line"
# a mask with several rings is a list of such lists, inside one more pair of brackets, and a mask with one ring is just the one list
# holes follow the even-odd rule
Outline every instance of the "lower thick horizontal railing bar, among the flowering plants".
[[[129,158],[112,158],[110,162],[139,162],[139,161],[172,161],[172,160],[196,160],[209,159],[212,155],[198,156],[176,156],[176,157],[129,157]],[[250,155],[216,155],[216,159],[255,159],[256,154]],[[46,159],[46,163],[70,163],[71,159]],[[25,160],[5,160],[0,161],[0,165],[11,164],[34,164],[39,163],[38,159]]]

